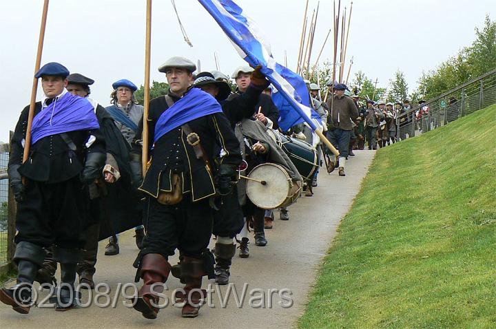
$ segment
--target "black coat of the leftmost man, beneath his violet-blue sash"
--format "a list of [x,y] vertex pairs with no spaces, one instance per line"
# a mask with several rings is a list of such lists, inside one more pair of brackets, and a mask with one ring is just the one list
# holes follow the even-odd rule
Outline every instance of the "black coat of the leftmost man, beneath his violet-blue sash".
[[[34,116],[37,116],[39,112],[41,112],[41,102],[36,103]],[[10,141],[9,167],[22,163],[23,140],[25,140],[28,126],[28,114],[29,105],[21,112],[14,135]],[[30,156],[19,167],[19,173],[37,182],[63,182],[81,173],[87,152],[105,153],[105,138],[100,129],[69,131],[65,134],[74,142],[75,151],[70,149],[61,134],[46,136],[31,145]],[[94,136],[96,140],[87,148],[85,144],[90,136]]]

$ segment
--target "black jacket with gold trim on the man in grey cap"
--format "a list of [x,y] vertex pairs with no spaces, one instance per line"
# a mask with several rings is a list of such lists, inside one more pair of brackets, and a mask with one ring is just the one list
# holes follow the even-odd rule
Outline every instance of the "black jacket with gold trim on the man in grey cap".
[[[179,98],[169,94],[174,102]],[[159,191],[171,191],[172,173],[183,178],[183,193],[192,193],[193,202],[207,198],[216,193],[214,173],[207,170],[205,162],[195,156],[194,149],[187,142],[187,135],[180,127],[169,131],[154,144],[155,125],[161,114],[168,109],[165,96],[154,98],[149,103],[148,136],[151,149],[149,167],[143,178],[141,191],[158,197]],[[241,162],[239,142],[234,136],[229,121],[223,113],[210,114],[189,121],[194,133],[198,134],[200,144],[214,166],[216,149],[220,146],[225,155],[220,164],[238,167]],[[143,122],[138,126],[136,136],[141,136]],[[213,168],[215,170],[215,168]]]

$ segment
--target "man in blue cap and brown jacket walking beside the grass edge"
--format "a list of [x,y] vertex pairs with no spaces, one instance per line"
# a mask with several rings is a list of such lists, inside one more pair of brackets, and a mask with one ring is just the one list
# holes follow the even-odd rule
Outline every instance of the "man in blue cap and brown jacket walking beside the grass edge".
[[[348,89],[344,83],[334,85],[333,89],[335,95],[327,100],[329,107],[327,138],[340,152],[338,159],[339,176],[346,176],[344,165],[349,151],[351,129],[353,129],[352,120],[358,118],[358,108],[351,98],[344,96],[344,91]],[[329,171],[332,172],[334,168],[335,162],[331,159]]]

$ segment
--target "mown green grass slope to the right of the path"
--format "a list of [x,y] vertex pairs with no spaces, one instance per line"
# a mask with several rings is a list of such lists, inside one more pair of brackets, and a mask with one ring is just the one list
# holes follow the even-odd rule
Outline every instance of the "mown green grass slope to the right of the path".
[[339,231],[299,328],[496,328],[496,106],[380,149]]

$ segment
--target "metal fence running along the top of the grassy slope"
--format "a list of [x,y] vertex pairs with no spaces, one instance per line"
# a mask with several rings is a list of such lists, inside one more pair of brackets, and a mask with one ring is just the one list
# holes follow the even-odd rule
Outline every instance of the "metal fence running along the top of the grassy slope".
[[496,104],[496,70],[398,115],[397,137],[400,140],[414,137],[493,104]]

